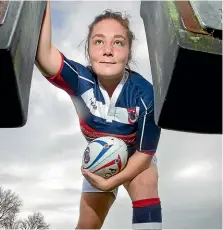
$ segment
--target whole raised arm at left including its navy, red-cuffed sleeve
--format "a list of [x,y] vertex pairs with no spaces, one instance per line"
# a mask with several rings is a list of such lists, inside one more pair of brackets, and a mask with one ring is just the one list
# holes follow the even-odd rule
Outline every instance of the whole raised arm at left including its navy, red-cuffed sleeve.
[[66,91],[69,95],[77,95],[83,82],[79,82],[79,75],[90,80],[91,74],[85,66],[68,59],[52,44],[50,7],[50,0],[47,0],[35,64],[51,84]]

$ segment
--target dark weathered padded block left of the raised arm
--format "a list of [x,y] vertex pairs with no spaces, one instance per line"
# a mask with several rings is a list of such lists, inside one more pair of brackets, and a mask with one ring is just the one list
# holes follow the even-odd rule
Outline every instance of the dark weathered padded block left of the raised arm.
[[0,1],[0,128],[26,124],[46,1]]

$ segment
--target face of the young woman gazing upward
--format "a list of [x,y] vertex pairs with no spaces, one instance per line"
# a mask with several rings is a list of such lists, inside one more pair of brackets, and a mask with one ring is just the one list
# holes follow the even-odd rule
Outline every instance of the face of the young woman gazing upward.
[[122,78],[129,59],[127,30],[114,19],[94,25],[89,39],[89,58],[99,79]]

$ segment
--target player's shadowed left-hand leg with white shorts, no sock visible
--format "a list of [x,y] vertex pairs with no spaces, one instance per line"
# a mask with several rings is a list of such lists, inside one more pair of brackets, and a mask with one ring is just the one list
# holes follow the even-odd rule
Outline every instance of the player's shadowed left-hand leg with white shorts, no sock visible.
[[80,200],[80,214],[76,229],[100,229],[117,195],[101,192],[84,179]]

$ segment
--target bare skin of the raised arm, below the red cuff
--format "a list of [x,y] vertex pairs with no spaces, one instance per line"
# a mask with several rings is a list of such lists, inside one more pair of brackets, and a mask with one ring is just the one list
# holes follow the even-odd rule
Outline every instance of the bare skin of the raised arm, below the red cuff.
[[48,0],[43,16],[35,64],[45,77],[49,77],[59,71],[61,62],[61,54],[52,45],[51,41],[51,13],[50,0]]

